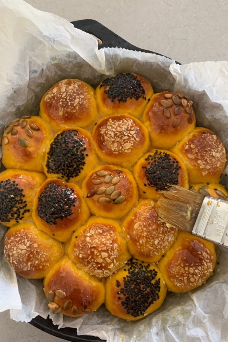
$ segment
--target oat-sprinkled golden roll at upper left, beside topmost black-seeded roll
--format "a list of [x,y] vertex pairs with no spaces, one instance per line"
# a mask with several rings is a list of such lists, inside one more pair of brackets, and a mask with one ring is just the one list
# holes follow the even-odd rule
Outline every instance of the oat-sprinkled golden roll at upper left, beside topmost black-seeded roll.
[[97,116],[95,91],[81,80],[59,81],[43,95],[40,116],[56,131],[88,126]]

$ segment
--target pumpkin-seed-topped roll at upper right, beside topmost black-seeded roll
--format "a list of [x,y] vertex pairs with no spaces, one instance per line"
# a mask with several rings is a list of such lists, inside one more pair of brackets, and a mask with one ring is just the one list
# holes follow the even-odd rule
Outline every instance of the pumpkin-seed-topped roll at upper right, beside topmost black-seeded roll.
[[152,147],[170,149],[196,127],[192,101],[182,92],[154,94],[148,103],[143,123],[146,125]]

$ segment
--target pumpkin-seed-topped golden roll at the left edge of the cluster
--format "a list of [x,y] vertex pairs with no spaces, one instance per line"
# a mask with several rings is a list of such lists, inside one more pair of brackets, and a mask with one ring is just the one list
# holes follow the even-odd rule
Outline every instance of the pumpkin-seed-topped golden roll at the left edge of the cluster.
[[45,148],[51,140],[49,126],[38,116],[15,119],[2,137],[2,163],[6,169],[43,172]]

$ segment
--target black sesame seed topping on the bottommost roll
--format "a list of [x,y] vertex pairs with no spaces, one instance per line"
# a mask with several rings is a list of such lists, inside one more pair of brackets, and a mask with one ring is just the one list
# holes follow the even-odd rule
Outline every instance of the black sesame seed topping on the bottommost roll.
[[127,266],[130,266],[128,277],[123,278],[124,287],[120,289],[124,296],[121,305],[127,314],[133,317],[143,316],[150,305],[159,299],[160,278],[156,279],[158,273],[155,269],[149,269],[149,264],[139,264],[131,259]]

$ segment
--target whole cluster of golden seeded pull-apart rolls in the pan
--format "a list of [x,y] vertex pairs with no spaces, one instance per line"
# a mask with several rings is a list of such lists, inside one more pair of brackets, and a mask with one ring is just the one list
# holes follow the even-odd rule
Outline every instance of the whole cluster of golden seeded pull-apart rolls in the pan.
[[40,116],[22,116],[1,138],[0,221],[15,271],[44,278],[48,306],[77,317],[105,303],[137,320],[167,289],[202,285],[216,264],[211,242],[162,222],[160,190],[170,184],[227,199],[218,184],[226,152],[196,126],[182,92],[153,93],[142,76],[56,83]]

